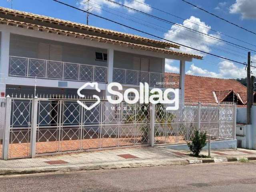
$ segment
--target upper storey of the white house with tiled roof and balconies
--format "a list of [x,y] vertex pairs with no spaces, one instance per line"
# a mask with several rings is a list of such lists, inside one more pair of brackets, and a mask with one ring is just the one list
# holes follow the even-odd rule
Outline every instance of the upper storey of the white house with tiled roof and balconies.
[[[139,82],[163,87],[165,59],[180,60],[178,88],[184,100],[185,62],[201,56],[176,44],[0,7],[1,95],[75,94],[84,82]],[[160,83],[159,83],[160,82]],[[85,90],[86,95],[96,92]]]

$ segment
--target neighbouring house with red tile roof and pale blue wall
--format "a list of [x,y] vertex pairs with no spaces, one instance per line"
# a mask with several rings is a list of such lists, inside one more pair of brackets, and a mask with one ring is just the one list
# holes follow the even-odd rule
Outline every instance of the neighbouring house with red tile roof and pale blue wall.
[[[166,72],[165,84],[175,84],[179,76],[179,74]],[[256,102],[255,92],[253,99]],[[252,130],[246,125],[247,88],[237,80],[185,75],[185,101],[217,104],[235,103],[238,107],[236,110],[237,146],[256,148],[253,146]],[[252,118],[254,120],[255,115],[252,114]]]

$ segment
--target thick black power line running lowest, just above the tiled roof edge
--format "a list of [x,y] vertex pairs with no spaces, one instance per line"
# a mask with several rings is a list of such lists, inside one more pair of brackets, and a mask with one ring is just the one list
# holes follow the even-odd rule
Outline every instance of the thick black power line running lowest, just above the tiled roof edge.
[[[63,5],[65,5],[65,6],[68,6],[68,7],[74,8],[74,9],[76,9],[76,10],[80,10],[80,11],[82,11],[82,12],[86,12],[85,10],[82,10],[82,9],[77,8],[77,7],[75,7],[75,6],[66,4],[66,3],[64,3],[64,2],[61,2],[61,1],[58,1],[58,0],[53,0],[53,1],[58,2],[58,3],[60,3],[60,4],[63,4]],[[167,42],[171,42],[171,43],[174,43],[174,44],[178,44],[178,45],[180,45],[180,46],[184,46],[184,47],[186,47],[186,48],[190,48],[190,49],[192,49],[192,50],[196,50],[196,51],[202,52],[202,53],[204,53],[204,54],[212,55],[212,56],[215,56],[215,57],[218,57],[218,58],[222,58],[222,59],[224,59],[224,60],[229,60],[229,61],[232,61],[232,62],[235,62],[235,63],[238,63],[238,64],[242,64],[242,65],[246,65],[246,66],[247,66],[247,64],[242,63],[242,62],[238,62],[238,61],[236,61],[236,60],[232,60],[232,59],[229,59],[229,58],[225,58],[225,57],[222,57],[222,56],[218,56],[218,55],[216,55],[216,54],[212,54],[212,53],[208,53],[208,52],[205,52],[205,51],[196,49],[196,48],[192,48],[192,47],[190,47],[190,46],[186,46],[186,45],[183,45],[183,44],[180,44],[180,43],[176,43],[176,42],[170,41],[170,40],[168,40],[168,39],[165,39],[165,38],[156,36],[156,35],[154,35],[154,34],[150,34],[150,33],[148,33],[148,32],[144,32],[144,31],[142,31],[142,30],[139,30],[139,29],[136,29],[136,28],[127,26],[127,25],[125,25],[125,24],[116,22],[116,21],[114,21],[114,20],[111,20],[111,19],[108,19],[108,18],[99,16],[99,15],[96,15],[96,14],[94,14],[94,13],[90,13],[90,14],[93,15],[93,16],[96,16],[96,17],[98,17],[98,18],[102,18],[102,19],[104,19],[104,20],[113,22],[113,23],[115,23],[115,24],[118,24],[118,25],[121,25],[121,26],[130,28],[130,29],[132,29],[132,30],[135,30],[135,31],[138,31],[138,32],[141,32],[141,33],[150,35],[150,36],[153,36],[153,37],[155,37],[155,38],[159,38],[159,39],[165,40],[165,41],[167,41]],[[252,66],[252,67],[254,67],[254,66]],[[256,67],[255,67],[255,68],[256,68]]]

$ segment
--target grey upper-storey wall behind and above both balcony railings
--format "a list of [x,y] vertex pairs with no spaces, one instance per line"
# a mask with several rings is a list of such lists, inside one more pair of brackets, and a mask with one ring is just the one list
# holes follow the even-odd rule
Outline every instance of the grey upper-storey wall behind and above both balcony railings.
[[[54,50],[47,50],[49,45],[50,47],[55,46],[58,48],[58,56],[54,57],[54,55],[51,54]],[[44,46],[44,52],[49,53],[42,53],[42,46]],[[95,59],[95,52],[107,53],[107,50],[78,44],[22,36],[18,34],[11,34],[10,36],[11,56],[107,66],[107,62],[98,61]],[[120,51],[114,52],[114,67],[116,68],[164,72],[162,71],[162,60],[162,58],[142,56]]]

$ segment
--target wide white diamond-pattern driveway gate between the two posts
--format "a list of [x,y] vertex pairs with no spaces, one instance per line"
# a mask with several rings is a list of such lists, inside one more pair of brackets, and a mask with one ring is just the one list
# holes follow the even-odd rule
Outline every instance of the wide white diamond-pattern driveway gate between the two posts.
[[76,100],[39,99],[37,114],[36,156],[149,144],[148,105],[101,101],[89,111]]

